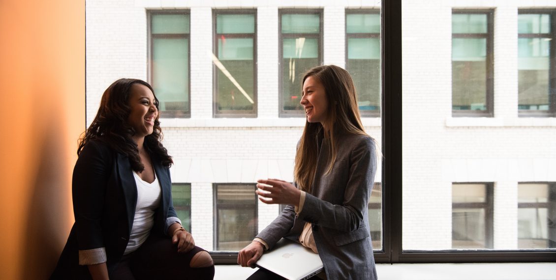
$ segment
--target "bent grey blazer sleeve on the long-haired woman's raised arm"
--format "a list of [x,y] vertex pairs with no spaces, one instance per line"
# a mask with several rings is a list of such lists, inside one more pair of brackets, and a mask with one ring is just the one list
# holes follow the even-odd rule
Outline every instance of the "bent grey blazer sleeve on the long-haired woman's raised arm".
[[298,217],[317,226],[342,232],[359,229],[364,221],[376,173],[375,145],[370,137],[363,138],[350,153],[349,178],[344,189],[344,201],[335,205],[306,193],[304,207]]

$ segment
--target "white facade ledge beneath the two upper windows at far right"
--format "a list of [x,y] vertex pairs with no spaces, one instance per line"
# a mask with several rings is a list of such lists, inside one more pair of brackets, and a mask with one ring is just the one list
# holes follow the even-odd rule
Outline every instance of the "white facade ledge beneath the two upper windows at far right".
[[446,118],[446,127],[556,127],[556,118]]

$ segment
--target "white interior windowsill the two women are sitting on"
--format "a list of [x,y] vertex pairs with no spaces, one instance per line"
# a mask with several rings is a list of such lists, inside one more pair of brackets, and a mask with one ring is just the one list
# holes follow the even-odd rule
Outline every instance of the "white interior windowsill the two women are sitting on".
[[[256,269],[216,266],[215,280],[246,279]],[[377,264],[380,280],[554,280],[556,263]]]

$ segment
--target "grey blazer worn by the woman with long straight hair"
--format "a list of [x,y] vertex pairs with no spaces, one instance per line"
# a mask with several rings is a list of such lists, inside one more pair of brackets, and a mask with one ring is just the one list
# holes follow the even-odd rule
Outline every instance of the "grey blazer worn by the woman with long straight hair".
[[288,205],[257,237],[270,248],[282,237],[297,241],[305,222],[312,224],[327,279],[375,280],[368,225],[368,202],[376,173],[375,144],[369,136],[344,133],[336,162],[326,175],[327,139],[315,139],[319,159],[311,192],[299,214]]

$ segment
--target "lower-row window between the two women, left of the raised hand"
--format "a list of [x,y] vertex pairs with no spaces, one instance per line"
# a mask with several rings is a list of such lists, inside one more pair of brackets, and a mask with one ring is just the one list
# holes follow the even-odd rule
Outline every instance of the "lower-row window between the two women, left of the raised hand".
[[255,184],[214,184],[215,251],[239,251],[255,238]]

